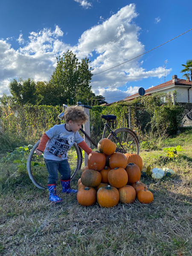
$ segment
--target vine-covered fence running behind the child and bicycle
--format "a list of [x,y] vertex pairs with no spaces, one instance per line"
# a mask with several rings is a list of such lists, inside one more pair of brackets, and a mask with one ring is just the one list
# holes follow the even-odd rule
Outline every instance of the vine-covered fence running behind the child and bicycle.
[[[183,122],[185,126],[192,123],[192,103],[177,103],[184,109]],[[63,111],[59,106],[0,106],[0,127],[4,133],[11,133],[17,137],[24,137],[33,143],[41,137],[47,129],[59,124],[58,114]],[[151,130],[153,113],[147,111],[145,104],[96,106],[90,111],[90,136],[98,141],[102,137],[104,119],[102,115],[114,114],[113,129],[129,127],[144,133]],[[185,120],[187,119],[187,120]],[[106,134],[107,135],[107,134]]]

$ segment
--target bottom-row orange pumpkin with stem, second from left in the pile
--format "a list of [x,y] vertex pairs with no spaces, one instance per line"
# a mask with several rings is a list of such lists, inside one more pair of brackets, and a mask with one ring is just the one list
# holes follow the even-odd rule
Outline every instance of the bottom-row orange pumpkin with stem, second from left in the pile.
[[113,186],[103,186],[97,191],[97,202],[101,207],[113,207],[119,202],[119,191]]

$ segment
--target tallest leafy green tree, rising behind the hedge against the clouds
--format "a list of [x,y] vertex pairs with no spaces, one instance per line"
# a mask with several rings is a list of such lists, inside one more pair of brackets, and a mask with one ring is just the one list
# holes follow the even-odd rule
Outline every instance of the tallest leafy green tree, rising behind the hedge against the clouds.
[[90,81],[92,67],[90,61],[84,58],[78,61],[72,51],[67,51],[57,58],[57,67],[49,81],[49,90],[52,101],[49,104],[62,105],[67,103],[76,104],[77,101],[87,102],[92,91]]

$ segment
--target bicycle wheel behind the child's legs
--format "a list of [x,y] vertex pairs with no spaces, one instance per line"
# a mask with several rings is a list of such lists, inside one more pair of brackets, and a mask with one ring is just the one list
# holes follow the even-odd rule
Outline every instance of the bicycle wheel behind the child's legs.
[[[44,162],[44,157],[35,153],[40,140],[31,149],[27,159],[27,171],[32,183],[39,189],[47,189],[48,172]],[[79,146],[74,143],[73,147],[67,152],[67,159],[71,169],[71,180],[74,179],[78,170],[81,168],[82,152]]]

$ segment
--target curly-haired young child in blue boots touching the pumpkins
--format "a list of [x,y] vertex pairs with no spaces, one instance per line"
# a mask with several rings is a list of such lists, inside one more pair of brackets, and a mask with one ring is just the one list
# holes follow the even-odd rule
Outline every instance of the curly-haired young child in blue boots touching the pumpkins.
[[92,151],[79,134],[81,125],[87,121],[87,115],[81,107],[69,107],[64,112],[65,123],[54,125],[46,131],[39,143],[36,153],[40,156],[44,152],[44,160],[48,170],[49,201],[56,204],[63,199],[56,194],[58,171],[61,174],[61,186],[64,193],[76,193],[70,188],[70,166],[67,161],[67,151],[76,142],[87,154]]

